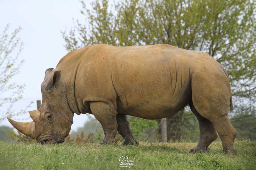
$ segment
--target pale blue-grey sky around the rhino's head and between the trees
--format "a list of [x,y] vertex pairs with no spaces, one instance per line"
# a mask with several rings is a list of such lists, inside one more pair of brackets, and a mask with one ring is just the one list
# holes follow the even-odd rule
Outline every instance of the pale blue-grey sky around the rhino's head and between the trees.
[[[84,2],[87,8],[92,8],[90,5],[92,0]],[[55,68],[60,58],[68,53],[64,48],[65,42],[60,31],[70,30],[74,26],[72,18],[83,21],[84,16],[80,10],[82,5],[78,0],[0,0],[0,34],[8,23],[10,23],[10,32],[19,26],[22,28],[18,35],[24,42],[24,49],[19,58],[24,59],[25,62],[20,68],[20,74],[14,76],[12,81],[20,85],[26,84],[26,87],[23,93],[24,99],[17,103],[16,108],[25,107],[33,100],[35,103],[29,110],[36,109],[35,100],[41,99],[40,85],[45,70]],[[26,119],[20,122],[32,121],[27,118],[28,114],[16,119]],[[15,117],[13,119],[15,120]],[[86,120],[86,115],[75,114],[71,130],[83,126]],[[1,125],[11,126],[7,119],[0,123]]]

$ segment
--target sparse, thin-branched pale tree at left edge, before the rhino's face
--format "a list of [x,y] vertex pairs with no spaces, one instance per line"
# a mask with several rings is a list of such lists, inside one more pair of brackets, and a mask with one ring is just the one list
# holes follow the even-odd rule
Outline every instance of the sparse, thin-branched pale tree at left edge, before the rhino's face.
[[12,117],[24,113],[30,107],[30,103],[25,109],[15,113],[13,105],[22,98],[22,92],[25,85],[17,85],[11,80],[13,76],[20,72],[20,66],[24,60],[19,60],[19,55],[23,49],[23,42],[18,37],[21,27],[15,29],[11,35],[8,35],[10,25],[7,24],[2,34],[0,34],[0,96],[8,95],[9,97],[0,98],[0,108],[4,107],[6,112],[0,112],[0,122],[6,117]]

